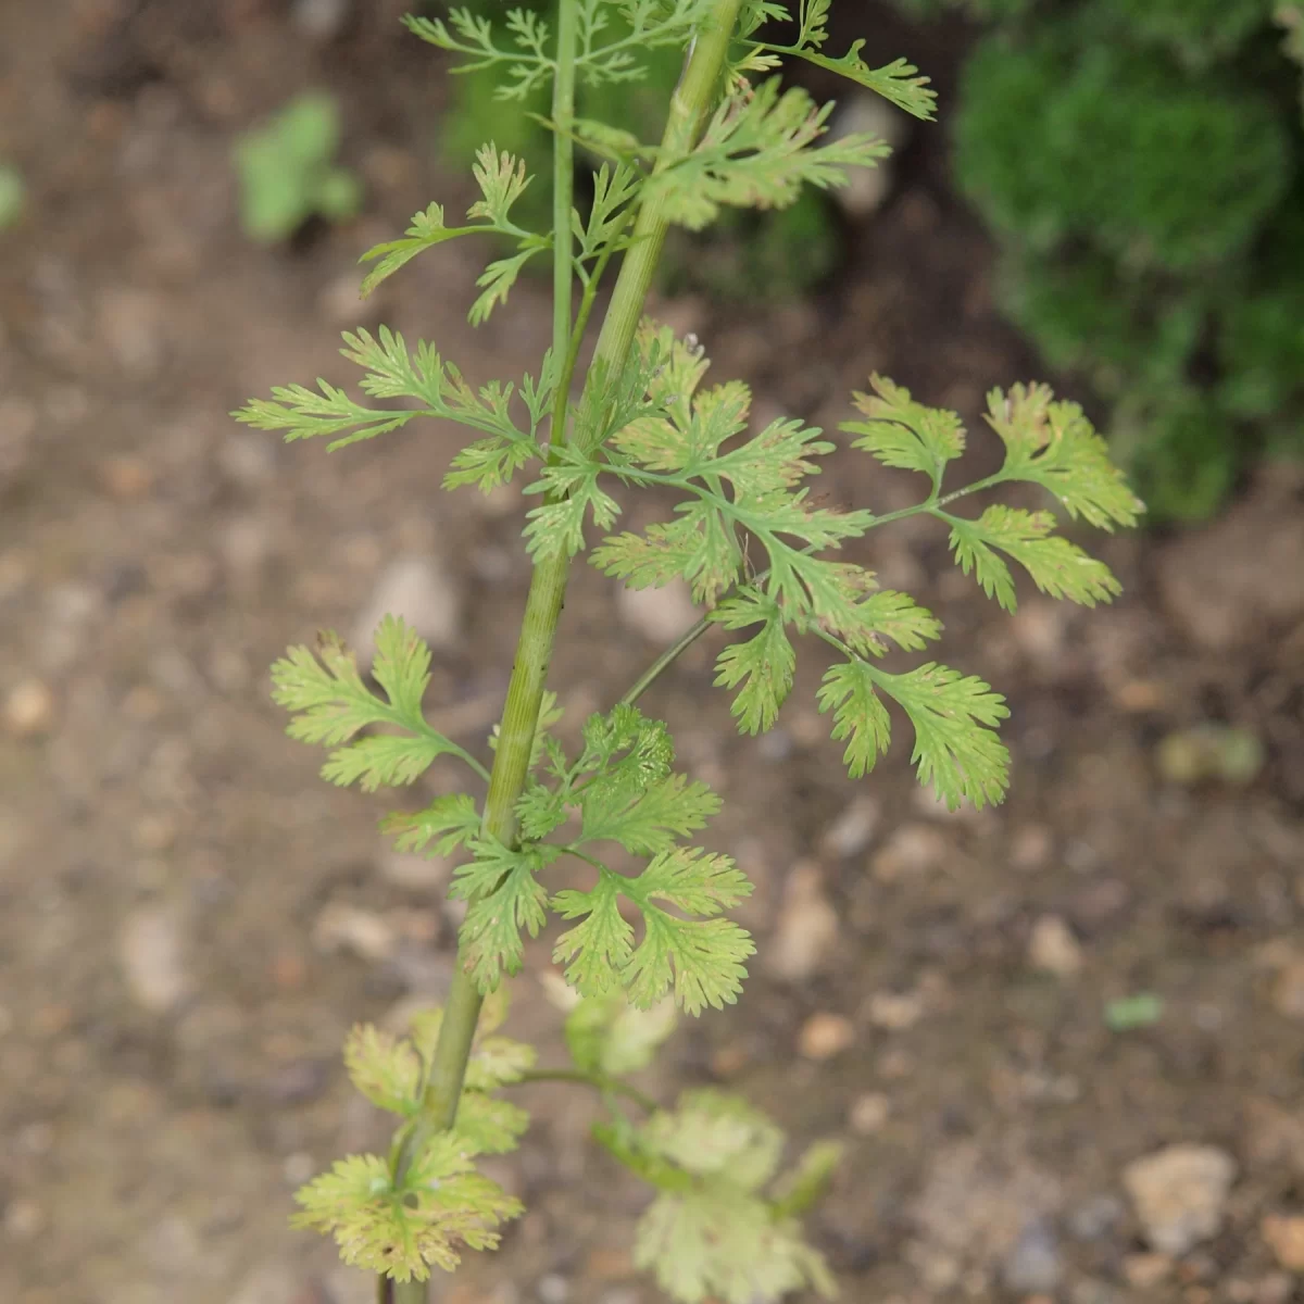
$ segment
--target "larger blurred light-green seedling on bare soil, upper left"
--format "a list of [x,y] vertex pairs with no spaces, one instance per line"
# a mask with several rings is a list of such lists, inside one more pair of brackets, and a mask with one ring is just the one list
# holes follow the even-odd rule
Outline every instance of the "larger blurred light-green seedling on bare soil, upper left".
[[357,213],[361,185],[334,164],[339,134],[335,100],[308,93],[236,141],[240,224],[250,240],[274,244],[312,216],[343,222]]

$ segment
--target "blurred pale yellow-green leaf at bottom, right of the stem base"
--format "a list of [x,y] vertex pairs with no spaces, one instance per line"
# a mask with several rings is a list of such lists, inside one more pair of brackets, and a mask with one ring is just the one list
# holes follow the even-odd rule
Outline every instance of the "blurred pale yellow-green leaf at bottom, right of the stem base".
[[782,1133],[737,1097],[691,1091],[642,1128],[615,1124],[599,1136],[659,1191],[634,1253],[673,1299],[751,1304],[802,1288],[836,1294],[828,1265],[793,1217],[827,1180],[828,1146],[781,1180],[775,1198],[764,1188],[778,1170]]

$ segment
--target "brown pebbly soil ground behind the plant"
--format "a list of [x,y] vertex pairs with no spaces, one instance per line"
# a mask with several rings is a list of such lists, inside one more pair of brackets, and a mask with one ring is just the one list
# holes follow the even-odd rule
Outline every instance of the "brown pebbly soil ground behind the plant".
[[[439,490],[450,429],[326,458],[226,413],[273,383],[349,378],[333,333],[366,312],[437,340],[472,378],[537,364],[541,287],[466,325],[482,253],[469,245],[412,263],[374,309],[355,303],[360,250],[430,197],[466,193],[438,171],[442,77],[396,27],[403,8],[382,0],[326,44],[271,0],[0,13],[0,158],[30,185],[25,222],[0,235],[5,1304],[370,1297],[329,1245],[288,1230],[289,1196],[381,1142],[340,1071],[343,1035],[438,1000],[455,922],[441,867],[386,850],[383,803],[325,786],[321,758],[284,738],[267,666],[318,627],[352,630],[391,559],[419,557],[460,612],[430,711],[482,747],[528,582],[518,503]],[[868,22],[875,46],[909,35]],[[901,48],[927,68],[928,39]],[[931,53],[945,85],[955,51]],[[340,98],[366,215],[263,252],[239,233],[231,142],[308,85]],[[702,335],[713,374],[831,428],[871,370],[974,420],[990,385],[1031,372],[994,314],[990,252],[932,130],[835,288],[762,326],[660,305]],[[913,489],[849,452],[831,479],[871,506]],[[994,814],[921,802],[904,729],[849,784],[814,708],[814,660],[759,741],[737,737],[711,686],[709,640],[648,699],[724,792],[712,845],[756,882],[743,922],[762,958],[739,1005],[681,1029],[645,1085],[669,1099],[724,1082],[794,1144],[846,1142],[812,1235],[848,1300],[1295,1297],[1300,497],[1274,468],[1223,522],[1107,541],[1127,593],[1097,612],[1030,593],[1008,618],[935,532],[872,540],[885,583],[945,618],[939,656],[1009,695],[1013,793]],[[570,720],[655,651],[612,584],[579,574],[553,677]],[[1163,777],[1157,742],[1210,720],[1262,741],[1253,781]],[[861,835],[831,838],[850,808]],[[789,982],[764,957],[797,868],[838,928]],[[323,919],[344,908],[361,914],[352,948],[333,952]],[[561,1063],[548,957],[546,940],[531,948],[512,1026]],[[1162,998],[1162,1017],[1111,1031],[1107,1004],[1138,992]],[[807,1054],[820,1015],[852,1034],[823,1061]],[[644,1196],[588,1142],[592,1101],[548,1088],[528,1103],[533,1131],[497,1171],[529,1213],[437,1297],[651,1304],[630,1261]],[[1218,1228],[1176,1260],[1148,1248],[1121,1180],[1172,1142],[1236,1164],[1213,1197]]]

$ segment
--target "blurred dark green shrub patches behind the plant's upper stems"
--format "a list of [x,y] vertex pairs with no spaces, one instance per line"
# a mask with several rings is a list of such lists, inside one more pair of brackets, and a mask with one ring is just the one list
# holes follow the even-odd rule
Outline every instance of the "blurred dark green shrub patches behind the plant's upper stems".
[[[460,7],[490,20],[502,18],[509,9],[532,9],[556,30],[554,0],[460,0]],[[432,13],[447,10],[443,4],[428,8]],[[614,7],[610,23],[613,27],[621,23]],[[648,50],[642,61],[648,69],[642,81],[596,87],[580,85],[578,116],[640,140],[659,132],[679,78],[683,52]],[[539,121],[548,115],[546,94],[524,106],[519,102],[505,104],[494,98],[492,77],[471,73],[452,80],[452,103],[442,124],[441,143],[450,166],[469,167],[476,149],[486,140],[526,159],[535,181],[515,211],[518,219],[536,228],[552,222],[552,146],[548,128]],[[580,156],[584,158],[583,150]],[[601,160],[592,158],[588,162],[596,167]],[[743,303],[786,300],[820,284],[840,257],[841,237],[831,200],[823,193],[803,192],[790,209],[777,213],[738,210],[702,235],[673,230],[660,276],[662,289],[670,292],[704,291],[717,300]]]

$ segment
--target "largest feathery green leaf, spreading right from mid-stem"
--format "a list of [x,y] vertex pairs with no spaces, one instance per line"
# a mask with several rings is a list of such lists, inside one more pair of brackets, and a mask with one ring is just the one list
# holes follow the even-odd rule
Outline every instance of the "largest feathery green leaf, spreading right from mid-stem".
[[[866,511],[808,502],[802,481],[833,445],[819,430],[784,419],[739,442],[747,429],[746,386],[702,391],[707,364],[699,349],[652,325],[644,326],[640,340],[644,372],[655,374],[648,389],[655,415],[631,420],[591,454],[572,447],[561,469],[544,472],[532,486],[536,492],[559,494],[583,486],[566,514],[565,533],[563,512],[553,512],[552,537],[578,550],[585,509],[600,527],[614,516],[615,502],[599,484],[604,471],[626,482],[690,493],[672,520],[653,523],[640,535],[609,536],[591,559],[638,588],[682,576],[698,601],[715,604],[712,621],[730,630],[759,626],[750,639],[726,647],[717,662],[716,682],[738,690],[733,712],[745,733],[772,728],[792,689],[797,655],[790,632],[815,634],[848,659],[825,677],[820,708],[833,712],[835,738],[848,741],[845,760],[853,777],[872,768],[887,750],[891,721],[880,699],[887,694],[914,726],[922,781],[935,784],[952,806],[961,799],[977,805],[999,799],[1008,756],[990,729],[1005,713],[1000,698],[981,681],[943,666],[910,674],[874,666],[889,643],[908,652],[922,649],[939,636],[939,622],[909,596],[878,589],[868,571],[818,556],[879,524]],[[1015,606],[1013,579],[999,553],[1018,562],[1052,596],[1091,606],[1118,592],[1103,563],[1052,533],[1048,512],[994,506],[965,518],[945,510],[973,489],[1024,481],[1047,490],[1071,518],[1104,529],[1133,524],[1141,503],[1077,404],[1055,402],[1045,386],[1015,386],[1008,395],[994,391],[987,420],[1005,445],[1005,463],[979,485],[943,497],[947,466],[965,449],[960,417],[914,402],[909,391],[882,377],[871,383],[872,394],[855,396],[867,420],[845,422],[842,429],[858,436],[855,447],[887,466],[928,477],[930,496],[914,510],[951,528],[957,561],[966,574],[975,572],[988,596],[1007,609]],[[751,566],[762,553],[767,565],[752,578]],[[726,591],[729,596],[721,597]],[[602,900],[605,914],[596,918],[609,917],[610,926],[593,928],[618,944],[629,926],[615,911],[614,896]]]

